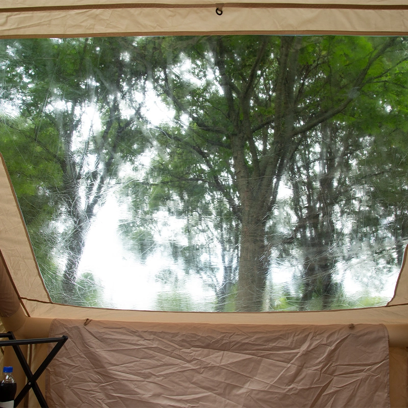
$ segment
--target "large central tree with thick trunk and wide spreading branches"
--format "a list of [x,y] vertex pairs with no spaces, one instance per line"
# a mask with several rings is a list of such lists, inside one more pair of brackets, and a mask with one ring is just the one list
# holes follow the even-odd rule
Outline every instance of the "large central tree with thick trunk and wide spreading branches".
[[[211,186],[241,224],[237,310],[262,310],[269,270],[266,223],[299,146],[318,126],[357,104],[359,95],[389,71],[387,58],[398,41],[156,40],[151,56],[155,89],[176,120],[188,117],[188,126],[160,129],[168,151],[164,162],[184,162],[189,152],[196,168],[188,175],[173,172],[173,180]],[[195,81],[177,73],[183,64],[191,64]],[[205,80],[209,72],[212,81]]]

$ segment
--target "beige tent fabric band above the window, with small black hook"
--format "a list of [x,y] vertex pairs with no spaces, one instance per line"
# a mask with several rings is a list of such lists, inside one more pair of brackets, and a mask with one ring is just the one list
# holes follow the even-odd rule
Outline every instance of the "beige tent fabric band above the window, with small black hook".
[[[216,8],[222,8],[217,15]],[[403,34],[408,5],[377,1],[3,1],[0,37],[158,34]]]

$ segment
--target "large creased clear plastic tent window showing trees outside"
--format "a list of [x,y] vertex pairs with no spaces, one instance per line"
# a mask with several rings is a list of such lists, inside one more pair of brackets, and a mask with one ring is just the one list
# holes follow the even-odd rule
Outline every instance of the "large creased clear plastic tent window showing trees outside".
[[0,152],[53,301],[372,307],[408,243],[401,37],[0,41]]

